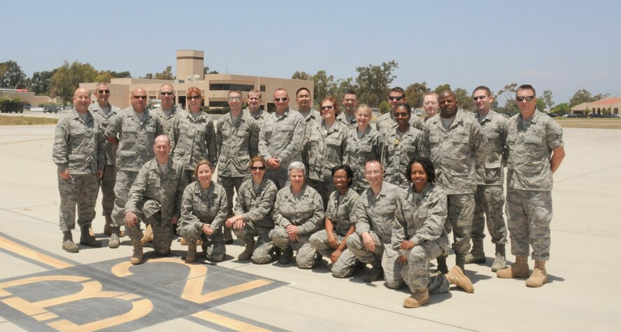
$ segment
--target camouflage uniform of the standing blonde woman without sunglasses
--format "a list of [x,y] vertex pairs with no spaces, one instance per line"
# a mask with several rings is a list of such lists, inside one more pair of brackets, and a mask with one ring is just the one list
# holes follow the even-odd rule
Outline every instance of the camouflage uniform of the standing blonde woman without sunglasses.
[[364,163],[369,159],[381,161],[384,151],[384,136],[371,126],[366,128],[364,136],[358,138],[357,129],[348,133],[345,150],[345,164],[354,171],[352,189],[362,194],[369,188],[369,182],[364,178]]

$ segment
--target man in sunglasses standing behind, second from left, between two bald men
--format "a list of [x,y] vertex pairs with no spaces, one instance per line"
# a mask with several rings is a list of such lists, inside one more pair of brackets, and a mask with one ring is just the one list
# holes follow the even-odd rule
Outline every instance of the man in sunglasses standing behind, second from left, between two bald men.
[[[120,108],[110,105],[108,99],[110,99],[110,88],[106,83],[99,83],[95,90],[95,96],[97,96],[97,103],[92,103],[88,107],[93,113],[93,116],[99,120],[101,124],[101,135],[105,133],[108,124],[112,121],[113,117],[121,111]],[[103,233],[107,236],[112,235],[112,209],[114,208],[114,182],[116,180],[115,159],[116,159],[116,145],[106,140],[106,163],[103,165],[103,177],[99,180],[99,186],[101,187],[101,208],[103,210],[103,217],[106,218],[106,225],[103,226]]]

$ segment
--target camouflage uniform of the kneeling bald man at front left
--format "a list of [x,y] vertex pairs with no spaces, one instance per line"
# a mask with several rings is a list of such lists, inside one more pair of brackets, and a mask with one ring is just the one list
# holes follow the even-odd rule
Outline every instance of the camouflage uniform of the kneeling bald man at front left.
[[166,173],[162,173],[157,159],[151,159],[141,168],[129,189],[125,213],[134,212],[138,223],[125,225],[131,243],[140,243],[144,234],[140,222],[150,224],[153,230],[153,248],[160,255],[169,254],[173,242],[173,217],[180,217],[181,196],[185,189],[183,168],[171,159]]

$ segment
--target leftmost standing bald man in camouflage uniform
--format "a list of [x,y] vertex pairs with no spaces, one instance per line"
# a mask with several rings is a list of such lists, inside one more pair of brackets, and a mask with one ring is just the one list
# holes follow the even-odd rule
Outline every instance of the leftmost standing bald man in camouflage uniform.
[[78,226],[80,245],[101,247],[89,232],[95,217],[95,203],[106,164],[103,135],[100,123],[88,111],[90,92],[84,88],[73,93],[73,110],[58,120],[54,133],[52,160],[58,166],[58,191],[60,194],[60,230],[63,233],[62,248],[66,252],[78,252],[73,243],[71,230]]

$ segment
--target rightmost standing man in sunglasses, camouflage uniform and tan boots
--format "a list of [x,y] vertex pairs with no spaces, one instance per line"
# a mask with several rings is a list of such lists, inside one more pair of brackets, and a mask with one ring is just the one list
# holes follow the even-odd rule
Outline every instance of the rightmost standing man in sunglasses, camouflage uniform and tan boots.
[[548,282],[545,261],[550,259],[552,221],[552,173],[563,158],[563,131],[555,120],[535,109],[537,98],[531,85],[515,92],[520,114],[509,120],[507,137],[507,225],[515,264],[496,273],[498,277],[527,277],[529,245],[535,268],[528,287]]

